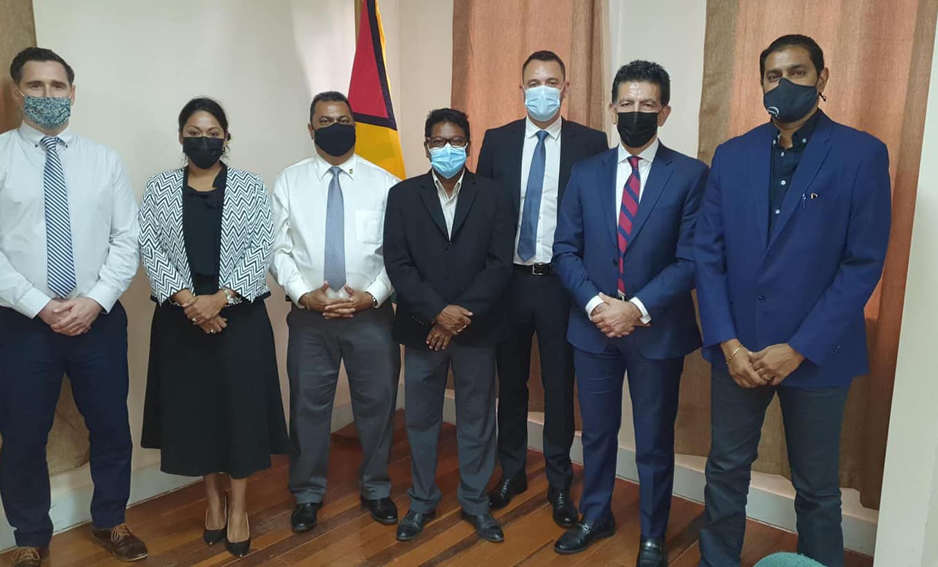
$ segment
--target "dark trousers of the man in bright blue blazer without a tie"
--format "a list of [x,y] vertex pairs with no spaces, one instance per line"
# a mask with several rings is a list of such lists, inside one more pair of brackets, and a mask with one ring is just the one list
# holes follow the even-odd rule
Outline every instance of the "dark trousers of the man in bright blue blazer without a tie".
[[746,532],[746,501],[765,410],[778,394],[794,485],[798,553],[843,567],[840,528],[840,425],[849,386],[741,388],[714,367],[712,444],[700,535],[703,567],[738,567]]

